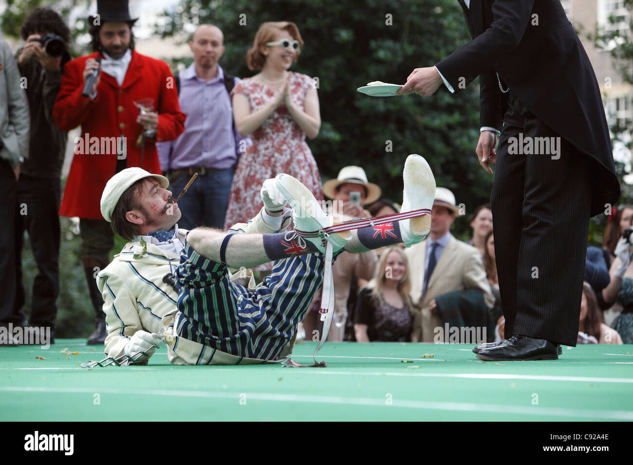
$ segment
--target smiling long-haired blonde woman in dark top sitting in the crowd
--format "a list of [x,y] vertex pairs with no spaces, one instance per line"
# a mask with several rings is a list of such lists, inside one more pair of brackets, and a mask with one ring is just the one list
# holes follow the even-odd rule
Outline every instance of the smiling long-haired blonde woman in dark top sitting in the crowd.
[[368,287],[361,289],[354,312],[358,342],[406,342],[413,332],[408,262],[396,245],[385,247]]

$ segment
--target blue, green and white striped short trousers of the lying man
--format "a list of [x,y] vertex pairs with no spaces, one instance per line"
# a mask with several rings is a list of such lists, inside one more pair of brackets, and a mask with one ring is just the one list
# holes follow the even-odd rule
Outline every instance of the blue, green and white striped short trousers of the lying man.
[[323,254],[276,261],[253,292],[185,245],[175,270],[177,335],[239,357],[278,359],[323,283]]

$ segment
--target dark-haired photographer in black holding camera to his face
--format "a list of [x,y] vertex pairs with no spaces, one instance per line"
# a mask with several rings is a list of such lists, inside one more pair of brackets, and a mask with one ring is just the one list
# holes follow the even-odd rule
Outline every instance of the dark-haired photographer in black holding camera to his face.
[[[63,66],[70,61],[67,48],[70,30],[50,8],[37,8],[21,30],[26,42],[15,54],[20,75],[25,79],[30,113],[28,158],[18,165],[17,202],[25,214],[15,215],[14,314],[24,318],[25,289],[22,283],[22,246],[28,232],[38,274],[33,285],[28,326],[50,327],[54,334],[55,301],[60,291],[61,166],[68,133],[53,121],[53,106],[60,90]],[[52,341],[51,341],[52,342]]]

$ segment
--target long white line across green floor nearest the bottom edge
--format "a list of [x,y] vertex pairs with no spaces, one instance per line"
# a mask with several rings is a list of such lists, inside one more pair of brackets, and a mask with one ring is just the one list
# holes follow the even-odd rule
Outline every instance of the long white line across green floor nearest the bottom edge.
[[572,418],[604,418],[633,420],[633,411],[627,410],[583,410],[567,409],[563,407],[525,407],[503,404],[475,404],[470,402],[435,402],[429,400],[397,400],[391,406],[385,405],[384,399],[371,397],[338,397],[329,395],[304,394],[270,394],[270,393],[241,393],[190,390],[162,390],[162,389],[111,389],[111,388],[45,388],[45,387],[0,387],[0,391],[8,392],[47,392],[55,394],[133,394],[133,395],[162,395],[168,397],[205,397],[210,399],[241,399],[246,394],[248,399],[270,400],[272,402],[306,402],[315,404],[342,404],[380,407],[390,409],[401,407],[406,409],[461,411],[461,412],[491,412],[506,416],[507,414],[522,414],[534,416],[561,416]]

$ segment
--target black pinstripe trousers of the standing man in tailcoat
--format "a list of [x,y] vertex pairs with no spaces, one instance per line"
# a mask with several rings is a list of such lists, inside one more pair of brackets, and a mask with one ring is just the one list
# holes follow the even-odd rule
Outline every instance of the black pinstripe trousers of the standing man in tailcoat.
[[557,154],[534,153],[536,137],[558,134],[510,93],[491,195],[505,337],[575,346],[593,161],[562,138]]

